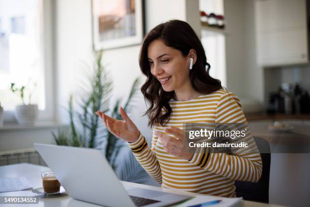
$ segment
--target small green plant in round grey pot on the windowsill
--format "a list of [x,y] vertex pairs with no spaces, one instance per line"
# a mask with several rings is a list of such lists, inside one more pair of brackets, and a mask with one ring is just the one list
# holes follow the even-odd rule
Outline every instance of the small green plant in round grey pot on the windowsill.
[[[26,88],[25,86],[16,86],[15,83],[11,83],[11,91],[13,93],[17,93],[21,100],[22,100],[22,105],[17,105],[15,107],[15,118],[17,120],[17,122],[19,124],[22,125],[34,125],[36,120],[37,120],[37,115],[38,115],[38,108],[37,108],[37,104],[31,104],[31,96],[32,96],[32,92],[34,91],[34,89],[36,88],[36,83],[33,83],[33,90],[30,90],[30,86],[29,88]],[[28,89],[28,105],[25,104],[25,100],[24,100],[24,95],[25,95],[25,90]]]

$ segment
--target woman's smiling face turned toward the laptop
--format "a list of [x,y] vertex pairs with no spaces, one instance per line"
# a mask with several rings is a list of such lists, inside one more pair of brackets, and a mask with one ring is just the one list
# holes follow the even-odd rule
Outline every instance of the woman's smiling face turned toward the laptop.
[[181,51],[168,47],[162,40],[152,41],[148,48],[151,74],[162,84],[165,91],[182,91],[190,86],[189,58]]

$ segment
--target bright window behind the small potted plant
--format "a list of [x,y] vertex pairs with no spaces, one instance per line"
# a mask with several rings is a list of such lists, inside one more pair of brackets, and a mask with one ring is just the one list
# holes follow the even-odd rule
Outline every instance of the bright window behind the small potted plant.
[[[24,102],[37,104],[39,120],[54,119],[51,73],[52,38],[51,0],[0,0],[0,102],[5,110],[5,121],[13,121],[16,105],[21,98],[10,91],[11,83],[25,86]],[[47,52],[49,51],[49,52]],[[29,98],[30,93],[32,94]]]

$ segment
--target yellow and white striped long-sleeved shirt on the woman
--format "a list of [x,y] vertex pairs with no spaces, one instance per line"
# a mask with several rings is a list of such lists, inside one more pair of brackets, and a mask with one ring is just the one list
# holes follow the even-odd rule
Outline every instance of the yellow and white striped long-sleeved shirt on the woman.
[[135,157],[163,188],[184,190],[217,196],[235,197],[235,180],[257,182],[262,162],[250,130],[245,140],[247,150],[233,153],[195,153],[191,160],[168,154],[156,130],[169,126],[183,129],[183,123],[247,123],[241,103],[235,94],[224,89],[200,95],[187,101],[170,100],[172,113],[166,126],[155,125],[152,146],[140,134],[134,143],[128,143]]

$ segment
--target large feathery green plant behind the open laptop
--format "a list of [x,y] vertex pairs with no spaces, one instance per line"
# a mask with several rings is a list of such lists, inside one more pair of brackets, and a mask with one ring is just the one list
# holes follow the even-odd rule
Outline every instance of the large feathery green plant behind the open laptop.
[[[108,114],[115,119],[121,119],[119,107],[121,99],[115,101],[112,110],[109,110],[109,100],[112,92],[112,79],[102,66],[103,51],[93,49],[93,75],[88,76],[89,82],[81,85],[78,101],[79,110],[73,109],[73,96],[69,98],[69,118],[70,127],[67,131],[59,131],[58,134],[52,132],[57,145],[103,148],[105,156],[111,166],[115,169],[116,159],[120,149],[125,146],[124,142],[111,134],[102,124],[101,119],[95,114],[97,111]],[[89,67],[89,66],[88,66]],[[91,89],[87,88],[90,85]],[[131,88],[128,99],[125,102],[124,110],[130,112],[131,102],[138,90],[139,78],[137,78]],[[102,145],[105,144],[105,145]]]

